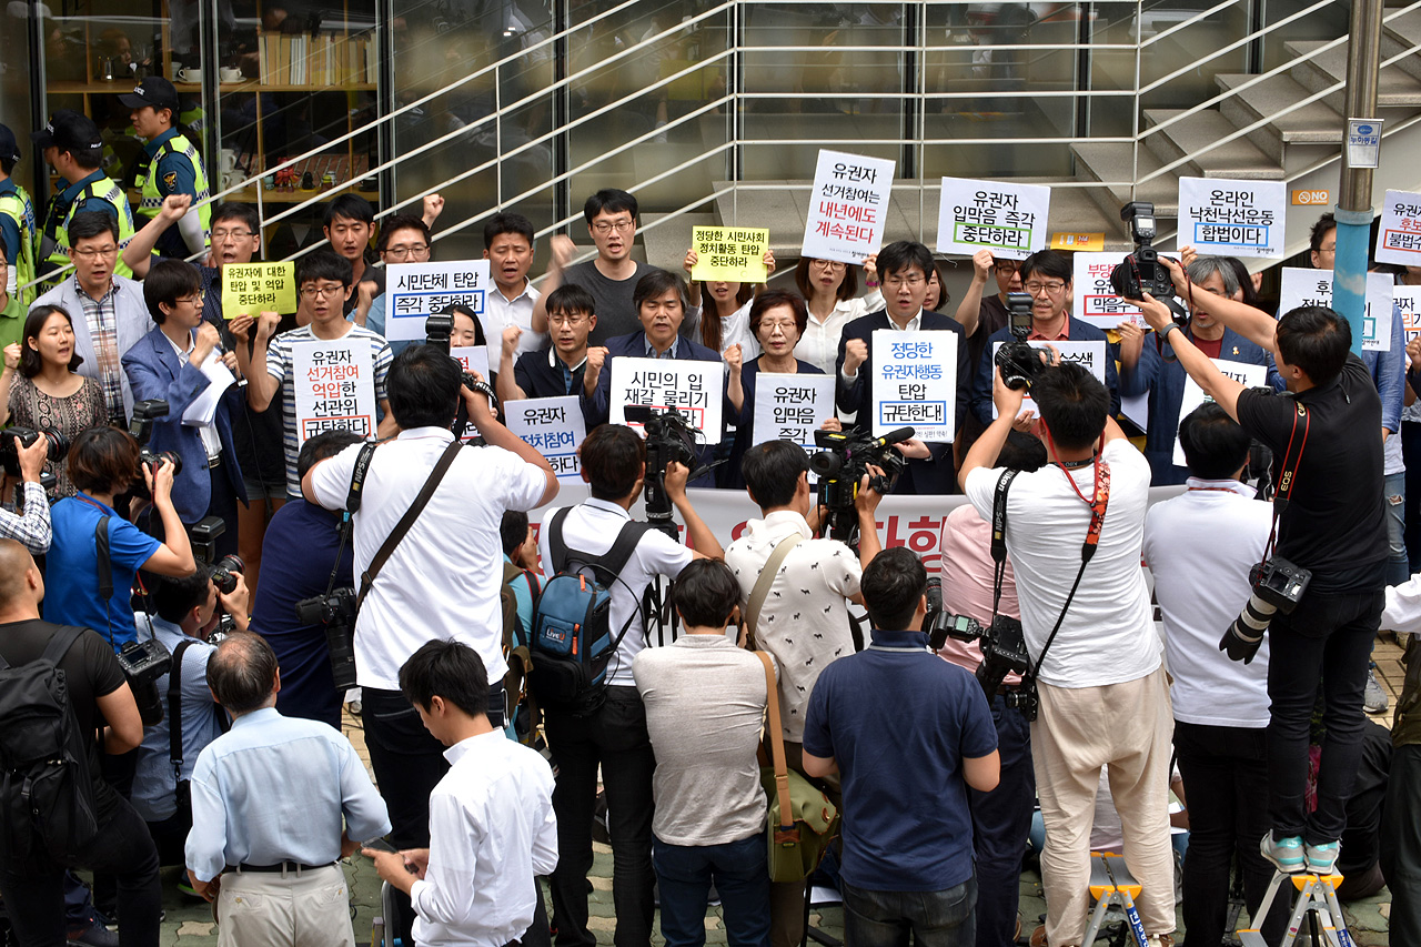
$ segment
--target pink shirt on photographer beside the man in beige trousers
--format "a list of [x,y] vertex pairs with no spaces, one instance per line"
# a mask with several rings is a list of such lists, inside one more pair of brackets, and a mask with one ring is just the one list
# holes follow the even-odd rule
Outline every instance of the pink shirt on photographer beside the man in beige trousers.
[[[938,540],[942,552],[938,566],[942,576],[942,607],[952,614],[976,619],[985,627],[992,621],[992,525],[982,519],[971,503],[958,506],[942,520],[942,537]],[[1020,619],[1022,609],[1016,603],[1016,582],[1012,577],[1012,560],[1006,562],[1006,576],[1002,580],[1002,614]],[[942,657],[969,671],[976,671],[982,663],[982,648],[978,641],[948,643],[938,651]],[[1020,684],[1017,674],[1009,674],[1006,684]]]

